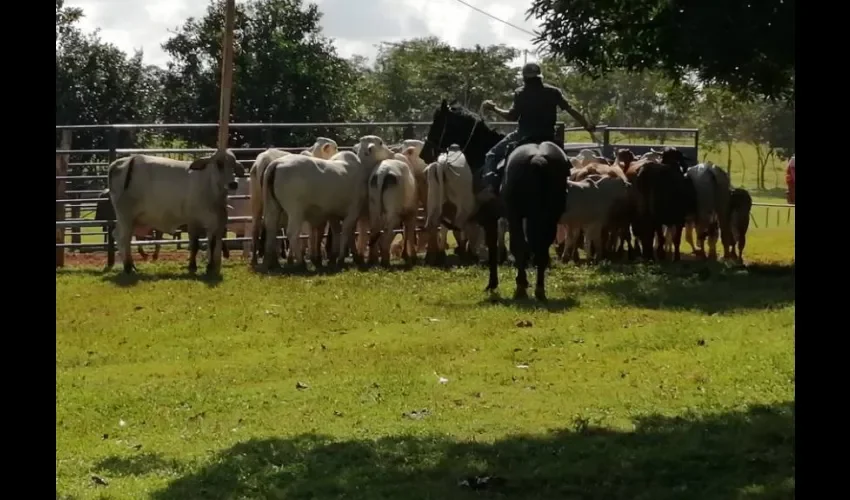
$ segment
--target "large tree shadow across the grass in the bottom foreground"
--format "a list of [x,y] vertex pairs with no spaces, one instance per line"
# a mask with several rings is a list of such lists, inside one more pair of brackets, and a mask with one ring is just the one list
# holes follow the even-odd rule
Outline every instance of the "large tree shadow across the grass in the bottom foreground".
[[577,419],[493,443],[305,434],[238,443],[210,463],[150,498],[785,499],[795,489],[794,403],[645,417],[633,432]]

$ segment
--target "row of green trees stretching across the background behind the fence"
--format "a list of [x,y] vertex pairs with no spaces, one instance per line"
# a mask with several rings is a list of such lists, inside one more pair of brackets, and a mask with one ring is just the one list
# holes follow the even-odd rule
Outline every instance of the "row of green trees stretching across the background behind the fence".
[[[728,53],[730,64],[737,64],[741,73],[743,49],[712,48],[712,57],[706,59],[710,68],[662,64],[658,57],[655,65],[633,64],[641,56],[634,53],[601,60],[596,49],[582,48],[587,40],[564,41],[567,35],[559,35],[560,25],[550,19],[566,4],[596,8],[609,14],[606,19],[616,19],[611,9],[633,11],[625,4],[641,2],[649,5],[658,0],[534,2],[532,12],[543,9],[537,13],[544,20],[540,41],[553,49],[540,61],[545,81],[564,89],[567,99],[594,124],[698,127],[702,146],[725,150],[730,163],[736,142],[755,146],[765,164],[771,155],[793,154],[794,96],[776,90],[793,88],[793,72],[790,84],[782,80],[785,73],[771,82],[749,84],[740,74],[723,78],[722,54]],[[66,7],[64,0],[56,0],[57,124],[218,120],[224,2],[211,0],[202,17],[187,19],[173,32],[163,44],[169,56],[165,67],[144,64],[141,53],[125,54],[97,33],[83,33],[78,25],[83,15],[78,8]],[[332,40],[322,34],[321,15],[316,4],[302,0],[250,0],[236,5],[233,122],[430,121],[442,99],[457,100],[475,110],[485,99],[507,105],[519,85],[519,68],[513,62],[521,54],[505,45],[458,49],[428,37],[382,45],[372,62],[360,56],[342,58]],[[686,21],[694,23],[698,18]],[[618,33],[627,36],[627,32],[620,26]],[[610,54],[618,54],[617,50],[609,47]],[[654,51],[652,47],[642,50]],[[746,69],[770,76],[758,68]],[[561,119],[574,125],[566,114]],[[316,135],[346,141],[358,133],[233,130],[231,144],[303,145]],[[211,145],[215,137],[214,129],[140,131],[122,135],[119,147],[174,139]],[[105,141],[96,132],[74,136],[75,148],[103,148]]]

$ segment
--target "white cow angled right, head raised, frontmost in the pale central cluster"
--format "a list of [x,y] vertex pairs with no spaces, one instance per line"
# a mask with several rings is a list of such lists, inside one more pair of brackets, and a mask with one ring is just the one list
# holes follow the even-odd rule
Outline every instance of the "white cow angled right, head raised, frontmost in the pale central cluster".
[[[263,178],[263,219],[271,234],[286,224],[290,244],[287,260],[303,264],[298,232],[304,221],[324,227],[329,220],[342,219],[341,234],[334,238],[334,250],[341,261],[358,218],[368,216],[368,179],[374,168],[393,153],[377,136],[363,136],[358,154],[342,151],[329,160],[305,155],[289,155],[274,160]],[[336,236],[336,235],[335,235]],[[338,250],[337,250],[338,249]],[[358,252],[355,259],[362,259]],[[330,258],[329,260],[337,260]],[[315,260],[315,254],[314,254]],[[266,241],[265,268],[278,265],[272,240]]]

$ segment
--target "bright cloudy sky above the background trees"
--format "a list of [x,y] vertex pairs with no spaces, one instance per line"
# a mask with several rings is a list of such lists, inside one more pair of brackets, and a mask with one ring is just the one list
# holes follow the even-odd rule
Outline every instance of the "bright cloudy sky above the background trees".
[[[244,0],[236,0],[243,3]],[[525,20],[530,0],[464,0],[495,17],[527,31],[536,21]],[[306,3],[306,0],[305,0]],[[504,43],[534,49],[531,35],[495,21],[457,0],[314,0],[324,14],[324,34],[334,40],[342,57],[358,54],[369,59],[380,42],[437,36],[455,47]],[[161,44],[190,16],[200,17],[209,0],[66,0],[85,16],[83,31],[100,29],[100,36],[132,54],[144,51],[148,64],[164,66],[168,60]],[[529,60],[535,60],[533,54]],[[518,60],[517,62],[521,62]]]

